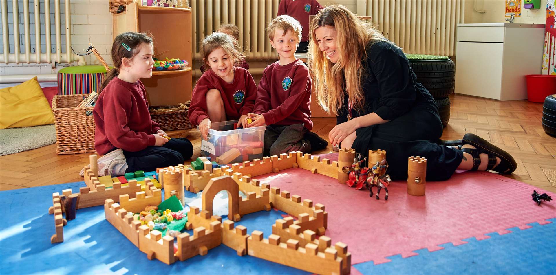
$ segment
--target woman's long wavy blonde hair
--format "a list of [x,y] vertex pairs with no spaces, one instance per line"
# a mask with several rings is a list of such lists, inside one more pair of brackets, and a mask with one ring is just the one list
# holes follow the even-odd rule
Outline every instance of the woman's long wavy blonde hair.
[[[332,63],[326,58],[316,41],[315,30],[319,27],[336,29],[336,54],[339,59]],[[367,58],[366,48],[377,41],[389,42],[373,27],[360,20],[342,5],[332,5],[321,9],[311,23],[307,61],[311,68],[316,89],[317,102],[327,112],[336,116],[344,105],[345,91],[354,109],[363,109],[365,94],[361,88],[364,70],[362,62]],[[389,42],[391,43],[391,42]],[[344,81],[345,77],[345,81]]]

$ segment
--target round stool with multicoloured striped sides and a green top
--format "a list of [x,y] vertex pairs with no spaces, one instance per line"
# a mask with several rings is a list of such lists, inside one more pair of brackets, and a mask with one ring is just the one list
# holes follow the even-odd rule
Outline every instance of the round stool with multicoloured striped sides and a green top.
[[99,92],[102,78],[106,73],[104,66],[71,66],[58,71],[58,94],[85,94]]

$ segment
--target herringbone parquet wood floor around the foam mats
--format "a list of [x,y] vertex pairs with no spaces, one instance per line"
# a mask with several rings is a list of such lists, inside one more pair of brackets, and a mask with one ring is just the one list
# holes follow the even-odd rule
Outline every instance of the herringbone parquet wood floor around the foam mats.
[[[541,126],[542,103],[500,102],[461,96],[451,97],[449,125],[444,139],[460,139],[475,133],[512,154],[518,169],[506,175],[556,192],[556,139]],[[313,130],[328,140],[334,118],[314,118]],[[200,156],[200,134],[191,131],[194,158]],[[315,153],[331,152],[331,146]],[[56,144],[0,157],[0,191],[49,184],[83,181],[78,172],[88,163],[88,154],[56,154]]]

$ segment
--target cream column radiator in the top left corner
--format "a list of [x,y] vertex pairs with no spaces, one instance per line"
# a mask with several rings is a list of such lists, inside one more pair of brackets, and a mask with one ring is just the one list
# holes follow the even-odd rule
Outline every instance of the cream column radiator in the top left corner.
[[[35,28],[35,39],[36,39],[36,47],[35,52],[31,52],[31,31],[29,23],[29,0],[23,0],[23,26],[24,26],[24,47],[25,53],[21,53],[21,49],[19,46],[19,17],[17,16],[19,12],[19,1],[12,0],[13,3],[13,34],[14,34],[14,52],[9,51],[9,41],[8,41],[8,1],[7,0],[0,0],[2,6],[2,37],[3,37],[3,46],[4,46],[4,53],[0,55],[0,63],[62,63],[68,62],[71,63],[77,60],[76,54],[74,54],[69,48],[71,46],[71,11],[69,6],[69,0],[65,1],[64,11],[65,11],[65,19],[66,19],[66,52],[62,53],[62,32],[61,32],[61,22],[60,22],[60,1],[59,0],[52,0],[54,1],[54,22],[56,24],[56,28],[51,30],[51,22],[50,17],[44,17],[44,23],[46,28],[44,28],[44,33],[41,33],[41,24],[34,24]],[[34,0],[32,2],[32,8],[34,8],[34,22],[41,22],[40,21],[40,6],[39,2],[44,2],[44,13],[50,13],[50,3],[51,0]],[[32,14],[32,13],[31,13]],[[51,33],[56,32],[56,52],[52,52],[52,41],[51,41]],[[41,52],[41,35],[46,37],[46,52]],[[82,59],[82,58],[81,58]]]

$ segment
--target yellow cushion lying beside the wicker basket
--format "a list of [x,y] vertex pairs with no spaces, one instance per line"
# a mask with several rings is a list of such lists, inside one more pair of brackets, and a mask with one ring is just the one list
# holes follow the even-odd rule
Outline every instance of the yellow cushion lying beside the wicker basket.
[[54,115],[37,77],[0,89],[0,129],[52,123]]

